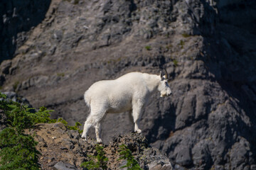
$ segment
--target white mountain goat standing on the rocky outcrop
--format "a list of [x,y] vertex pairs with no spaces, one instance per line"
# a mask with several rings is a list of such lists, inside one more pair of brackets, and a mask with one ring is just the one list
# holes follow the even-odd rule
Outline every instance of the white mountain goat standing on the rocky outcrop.
[[139,129],[139,118],[142,108],[154,91],[160,91],[160,96],[170,96],[171,89],[168,84],[168,76],[160,72],[160,76],[140,72],[131,72],[114,80],[102,80],[92,84],[85,91],[85,103],[90,107],[90,115],[85,121],[82,138],[87,140],[87,131],[95,127],[97,142],[100,138],[100,121],[105,113],[123,113],[132,111],[135,132]]

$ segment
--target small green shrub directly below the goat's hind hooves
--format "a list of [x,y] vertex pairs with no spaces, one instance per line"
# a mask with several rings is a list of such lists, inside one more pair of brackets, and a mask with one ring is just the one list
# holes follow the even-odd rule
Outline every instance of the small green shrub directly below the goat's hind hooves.
[[[97,151],[97,156],[90,156],[91,160],[88,162],[82,162],[80,166],[87,168],[87,169],[107,169],[107,157],[105,157],[104,147],[100,145],[96,145],[95,147]],[[93,160],[97,159],[97,162],[94,162]]]

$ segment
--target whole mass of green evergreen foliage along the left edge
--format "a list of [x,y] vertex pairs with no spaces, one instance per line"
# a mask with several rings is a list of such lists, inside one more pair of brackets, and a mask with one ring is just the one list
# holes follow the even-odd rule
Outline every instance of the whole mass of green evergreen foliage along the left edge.
[[36,123],[54,123],[56,120],[49,118],[52,111],[42,107],[35,113],[34,108],[6,100],[1,93],[0,109],[4,111],[8,125],[0,132],[0,170],[39,169],[37,142],[24,131]]

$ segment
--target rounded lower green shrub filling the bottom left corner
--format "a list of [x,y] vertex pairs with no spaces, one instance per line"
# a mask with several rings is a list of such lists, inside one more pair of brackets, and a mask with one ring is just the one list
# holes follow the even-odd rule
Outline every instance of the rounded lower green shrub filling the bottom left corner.
[[39,169],[37,142],[30,135],[5,128],[0,132],[0,169]]

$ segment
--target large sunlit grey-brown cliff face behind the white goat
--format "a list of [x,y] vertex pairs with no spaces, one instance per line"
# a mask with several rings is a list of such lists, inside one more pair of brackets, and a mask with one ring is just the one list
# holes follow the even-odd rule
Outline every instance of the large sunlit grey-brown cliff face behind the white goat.
[[[2,90],[53,118],[84,122],[95,81],[166,67],[173,96],[155,94],[143,134],[176,169],[256,168],[254,1],[60,1],[1,63]],[[103,140],[132,131],[127,113],[107,115]],[[90,132],[94,137],[94,132]]]

